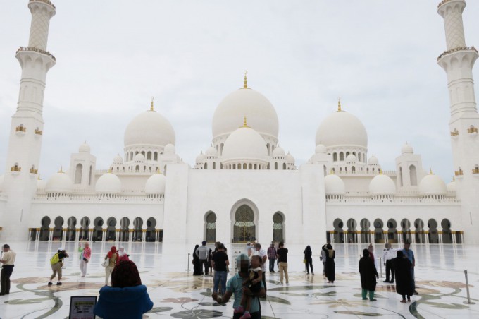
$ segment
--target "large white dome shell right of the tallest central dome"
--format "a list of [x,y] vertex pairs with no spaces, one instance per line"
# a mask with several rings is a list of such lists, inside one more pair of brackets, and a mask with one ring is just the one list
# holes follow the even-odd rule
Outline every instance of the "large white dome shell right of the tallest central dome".
[[316,131],[316,145],[368,147],[368,133],[354,115],[337,111],[326,117]]

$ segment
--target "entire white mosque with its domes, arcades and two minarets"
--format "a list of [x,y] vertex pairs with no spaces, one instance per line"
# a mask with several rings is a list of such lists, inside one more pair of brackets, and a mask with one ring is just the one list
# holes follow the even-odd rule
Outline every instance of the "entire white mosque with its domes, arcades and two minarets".
[[395,171],[382,171],[368,154],[366,128],[340,102],[318,125],[311,159],[297,166],[279,146],[275,107],[248,87],[246,74],[218,104],[211,147],[199,150],[194,166],[176,154],[175,130],[151,102],[125,128],[122,155],[113,154],[109,167],[98,168],[85,143],[68,169],[45,182],[37,167],[56,9],[30,0],[30,40],[16,53],[22,79],[0,177],[1,239],[479,243],[478,51],[465,44],[465,6],[444,0],[437,7],[447,38],[437,62],[450,95],[452,183],[423,169],[409,144],[398,145]]

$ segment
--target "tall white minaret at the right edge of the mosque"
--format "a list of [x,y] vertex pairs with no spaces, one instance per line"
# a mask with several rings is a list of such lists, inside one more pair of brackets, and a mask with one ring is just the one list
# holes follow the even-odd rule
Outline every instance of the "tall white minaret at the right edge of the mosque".
[[[437,63],[447,73],[451,103],[449,129],[464,241],[479,243],[479,114],[472,74],[478,50],[466,47],[462,24],[464,7],[464,0],[444,0],[437,6],[437,12],[444,18],[447,43],[447,50],[437,58]],[[458,226],[451,225],[451,228],[458,229]]]

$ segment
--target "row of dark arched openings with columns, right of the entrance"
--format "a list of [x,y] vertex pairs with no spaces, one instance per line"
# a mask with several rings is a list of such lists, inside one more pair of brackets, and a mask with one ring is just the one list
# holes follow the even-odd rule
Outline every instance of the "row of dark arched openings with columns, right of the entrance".
[[359,225],[355,219],[348,219],[344,225],[338,218],[333,227],[334,230],[327,231],[330,243],[463,243],[463,231],[453,231],[448,219],[442,219],[440,224],[429,219],[425,227],[422,219],[413,224],[409,219],[402,219],[399,224],[392,218],[386,223],[375,219],[372,225],[366,218]]

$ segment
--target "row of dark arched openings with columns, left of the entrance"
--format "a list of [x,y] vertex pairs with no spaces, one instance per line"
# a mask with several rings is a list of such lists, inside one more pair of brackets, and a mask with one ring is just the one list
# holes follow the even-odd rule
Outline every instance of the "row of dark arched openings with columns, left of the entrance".
[[54,227],[51,227],[50,217],[45,216],[42,227],[29,229],[28,238],[31,241],[163,241],[163,229],[156,229],[153,217],[146,223],[140,217],[133,219],[132,223],[128,217],[123,217],[119,224],[114,217],[108,218],[106,224],[101,217],[93,222],[82,217],[79,223],[76,217],[70,217],[66,225],[64,222],[63,217],[56,217]]

